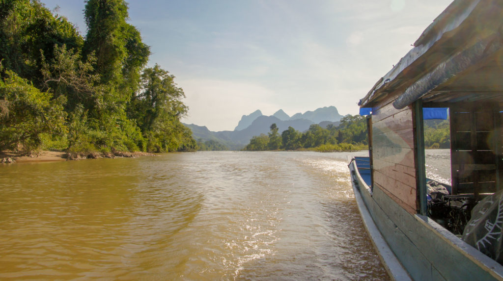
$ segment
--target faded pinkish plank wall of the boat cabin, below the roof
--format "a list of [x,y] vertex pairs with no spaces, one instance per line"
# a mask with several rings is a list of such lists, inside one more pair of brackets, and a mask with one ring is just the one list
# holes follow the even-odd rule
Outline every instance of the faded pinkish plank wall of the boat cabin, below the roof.
[[383,104],[372,112],[374,188],[415,214],[416,172],[412,107]]

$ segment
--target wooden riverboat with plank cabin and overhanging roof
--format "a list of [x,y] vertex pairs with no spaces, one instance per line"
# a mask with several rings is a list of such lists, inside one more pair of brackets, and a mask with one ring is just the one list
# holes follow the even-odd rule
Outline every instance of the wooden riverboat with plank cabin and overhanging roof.
[[[503,280],[503,266],[479,243],[503,240],[503,219],[485,221],[492,232],[479,242],[466,239],[482,213],[473,210],[503,194],[502,47],[503,1],[455,0],[359,102],[369,156],[352,158],[350,174],[393,279]],[[429,118],[449,122],[451,183],[426,176]],[[443,193],[433,198],[431,187]]]

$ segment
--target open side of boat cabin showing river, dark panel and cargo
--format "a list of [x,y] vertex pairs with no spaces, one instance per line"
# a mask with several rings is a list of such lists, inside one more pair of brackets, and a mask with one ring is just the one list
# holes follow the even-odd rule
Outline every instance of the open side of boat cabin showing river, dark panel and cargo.
[[453,104],[447,120],[423,120],[428,216],[455,235],[480,200],[501,190],[501,113],[490,104]]

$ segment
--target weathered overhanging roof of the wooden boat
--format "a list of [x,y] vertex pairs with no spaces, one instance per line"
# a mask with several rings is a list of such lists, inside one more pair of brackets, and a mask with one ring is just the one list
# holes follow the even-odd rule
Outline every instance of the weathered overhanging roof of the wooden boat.
[[372,107],[394,99],[401,109],[415,100],[503,104],[503,1],[455,0],[412,48],[360,100]]

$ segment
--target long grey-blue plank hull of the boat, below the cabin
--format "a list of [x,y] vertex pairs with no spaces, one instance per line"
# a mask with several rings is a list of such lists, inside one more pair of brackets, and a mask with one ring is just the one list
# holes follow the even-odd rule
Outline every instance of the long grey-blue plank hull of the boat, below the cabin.
[[[408,213],[378,187],[371,191],[358,173],[355,161],[351,161],[349,168],[355,197],[361,198],[357,202],[360,201],[358,205],[362,217],[365,220],[363,213],[369,213],[371,223],[375,224],[389,250],[411,279],[503,280],[503,267],[499,263],[432,219]],[[390,259],[380,251],[382,246],[375,245],[391,277],[403,279],[397,275],[399,273],[393,272],[393,266],[388,265]]]

